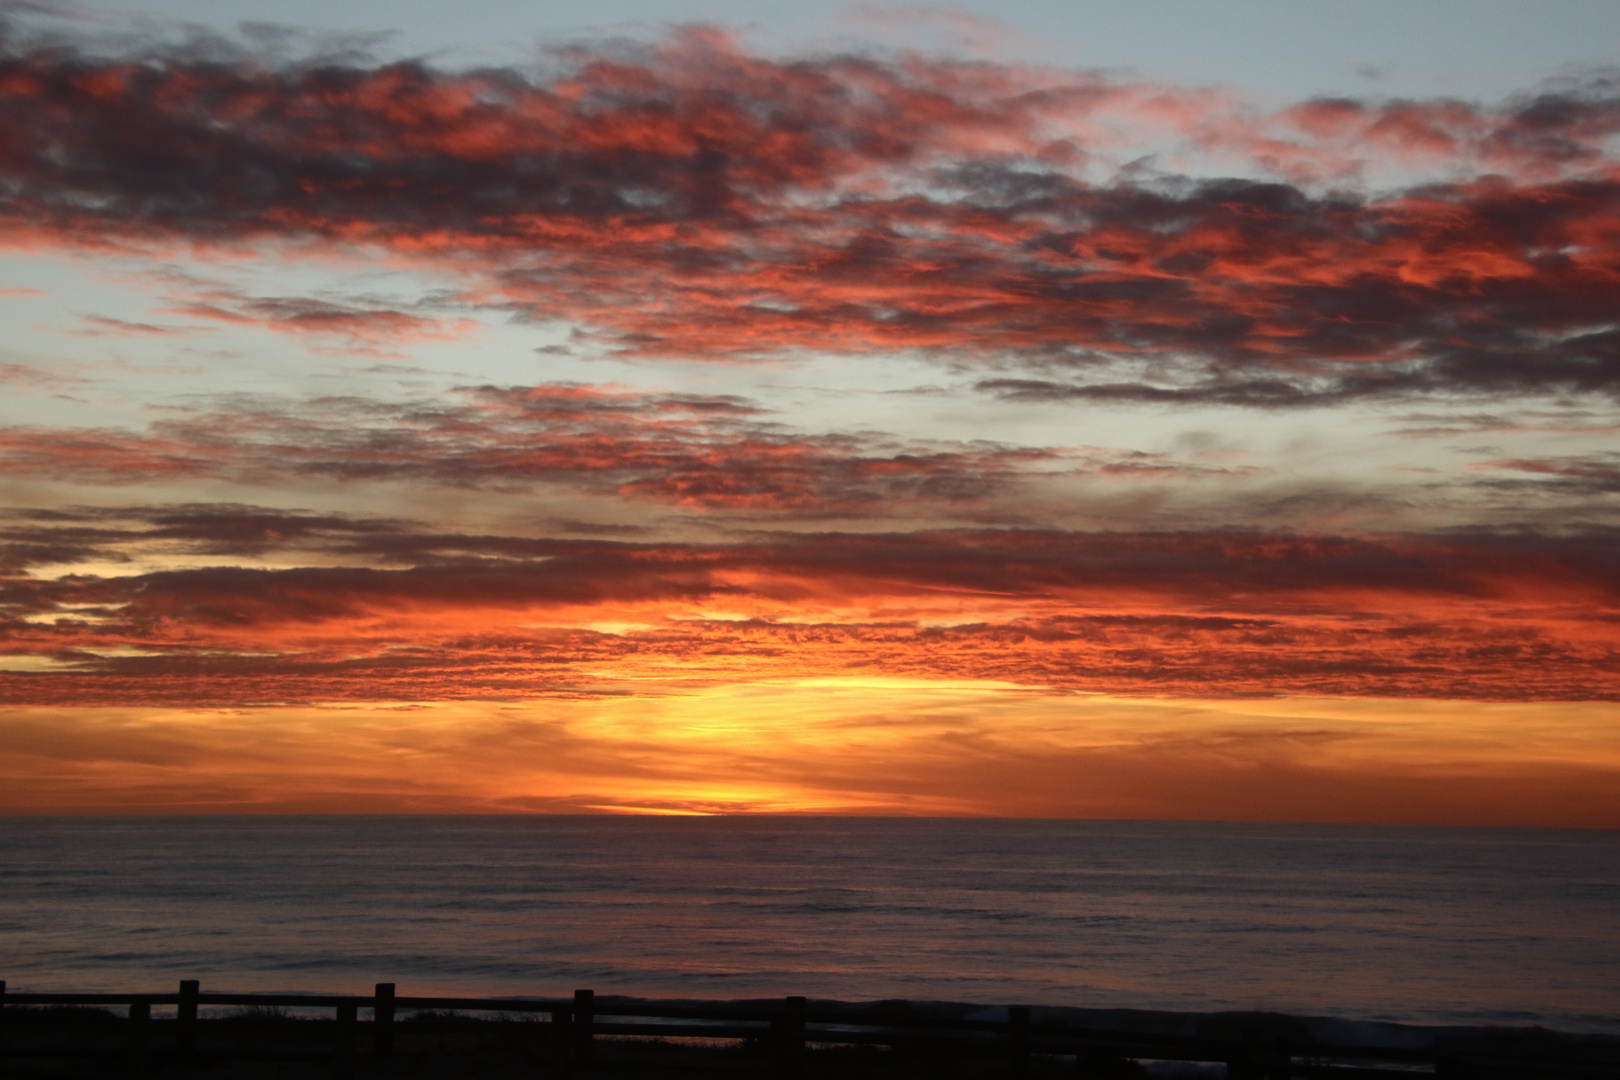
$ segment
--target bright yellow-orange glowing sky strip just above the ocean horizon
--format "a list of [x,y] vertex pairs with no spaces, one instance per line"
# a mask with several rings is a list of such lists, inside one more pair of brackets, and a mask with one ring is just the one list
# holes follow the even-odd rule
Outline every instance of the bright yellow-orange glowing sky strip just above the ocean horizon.
[[565,701],[13,709],[6,811],[883,813],[1620,826],[1604,703],[800,678]]

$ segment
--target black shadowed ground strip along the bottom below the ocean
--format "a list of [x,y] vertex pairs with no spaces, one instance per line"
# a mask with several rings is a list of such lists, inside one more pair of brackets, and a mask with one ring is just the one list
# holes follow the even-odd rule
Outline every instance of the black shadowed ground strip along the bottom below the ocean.
[[[196,994],[196,991],[193,991]],[[204,997],[206,999],[206,997]],[[996,1010],[878,1002],[645,1002],[591,1012],[246,1006],[120,1015],[5,1006],[0,1075],[130,1080],[1620,1080],[1620,1040],[1541,1028],[1403,1028],[1277,1014]],[[794,1014],[794,1009],[799,1012]],[[773,1012],[774,1010],[774,1012]],[[133,1015],[131,1015],[133,1014]],[[703,1027],[703,1015],[719,1017]],[[387,1014],[386,1014],[387,1015]],[[750,1020],[753,1018],[753,1027]],[[672,1035],[627,1035],[663,1017]],[[737,1020],[744,1017],[744,1020]],[[627,1022],[629,1018],[629,1022]],[[697,1022],[695,1022],[697,1020]],[[727,1023],[726,1020],[731,1020]],[[797,1023],[794,1023],[797,1020]],[[805,1023],[810,1020],[810,1023]],[[1103,1027],[1102,1022],[1108,1022]],[[698,1035],[695,1031],[706,1031]],[[724,1035],[724,1038],[721,1036]],[[1369,1041],[1375,1040],[1375,1041]]]

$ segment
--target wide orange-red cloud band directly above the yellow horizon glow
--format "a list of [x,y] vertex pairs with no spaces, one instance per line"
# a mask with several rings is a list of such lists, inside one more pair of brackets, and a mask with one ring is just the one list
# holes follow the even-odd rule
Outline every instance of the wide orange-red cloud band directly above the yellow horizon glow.
[[[653,544],[246,507],[122,513],[24,520],[6,538],[3,651],[26,669],[0,675],[8,699],[572,699],[872,675],[1149,696],[1620,698],[1607,533]],[[23,572],[75,551],[102,567],[122,554],[131,572]],[[141,570],[151,551],[207,562]]]

